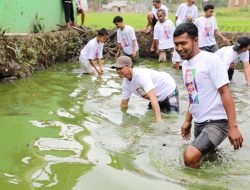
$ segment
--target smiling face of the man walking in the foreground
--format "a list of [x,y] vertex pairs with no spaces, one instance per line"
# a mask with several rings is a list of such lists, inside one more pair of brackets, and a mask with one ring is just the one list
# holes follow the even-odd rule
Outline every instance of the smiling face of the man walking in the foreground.
[[187,33],[174,38],[175,49],[182,59],[191,59],[198,48],[198,38],[192,39]]

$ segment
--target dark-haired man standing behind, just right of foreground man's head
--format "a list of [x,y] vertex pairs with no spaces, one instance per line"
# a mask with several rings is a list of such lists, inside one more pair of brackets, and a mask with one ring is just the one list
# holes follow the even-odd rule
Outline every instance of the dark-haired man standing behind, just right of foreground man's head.
[[203,10],[205,13],[204,17],[199,17],[194,22],[199,30],[199,48],[214,53],[218,50],[215,36],[220,37],[227,45],[230,45],[230,42],[218,30],[217,21],[213,16],[214,6],[212,4],[207,4],[204,6]]

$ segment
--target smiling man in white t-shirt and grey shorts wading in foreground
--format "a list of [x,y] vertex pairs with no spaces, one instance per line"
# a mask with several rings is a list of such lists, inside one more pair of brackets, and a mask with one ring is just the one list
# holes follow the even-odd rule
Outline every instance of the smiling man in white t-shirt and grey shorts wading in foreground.
[[176,27],[174,43],[185,60],[182,71],[189,110],[181,128],[184,139],[190,139],[194,120],[195,139],[184,151],[184,163],[199,168],[202,156],[227,136],[234,149],[242,146],[243,137],[236,122],[225,64],[216,54],[199,49],[198,29],[193,23]]

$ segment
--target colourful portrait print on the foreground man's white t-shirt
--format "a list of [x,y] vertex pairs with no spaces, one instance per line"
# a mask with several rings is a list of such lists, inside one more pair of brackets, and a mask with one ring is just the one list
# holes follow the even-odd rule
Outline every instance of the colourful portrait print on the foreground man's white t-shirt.
[[188,91],[190,104],[199,104],[198,88],[195,82],[196,69],[187,69],[185,73],[185,86]]

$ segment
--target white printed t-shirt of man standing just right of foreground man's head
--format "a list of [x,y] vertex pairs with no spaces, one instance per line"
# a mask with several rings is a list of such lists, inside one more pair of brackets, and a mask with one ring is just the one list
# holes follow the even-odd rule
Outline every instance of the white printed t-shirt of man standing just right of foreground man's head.
[[212,46],[216,44],[214,31],[218,30],[218,25],[214,16],[209,18],[200,17],[196,19],[195,25],[199,31],[199,47]]

